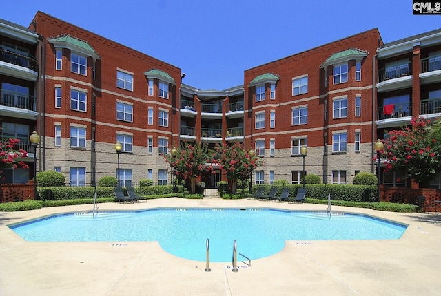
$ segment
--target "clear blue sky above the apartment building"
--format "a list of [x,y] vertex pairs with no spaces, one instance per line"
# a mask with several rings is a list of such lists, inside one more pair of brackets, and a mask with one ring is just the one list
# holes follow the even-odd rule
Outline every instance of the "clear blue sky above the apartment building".
[[2,0],[0,18],[28,26],[41,10],[177,67],[198,89],[243,84],[243,72],[378,28],[385,43],[441,28],[411,0]]

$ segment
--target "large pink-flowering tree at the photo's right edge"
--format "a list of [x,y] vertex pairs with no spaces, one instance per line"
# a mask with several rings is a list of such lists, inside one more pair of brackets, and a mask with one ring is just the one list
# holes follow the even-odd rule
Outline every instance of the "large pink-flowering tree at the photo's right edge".
[[405,171],[420,187],[429,187],[441,167],[441,122],[430,129],[429,120],[412,119],[411,127],[390,131],[384,140],[383,158],[386,171]]

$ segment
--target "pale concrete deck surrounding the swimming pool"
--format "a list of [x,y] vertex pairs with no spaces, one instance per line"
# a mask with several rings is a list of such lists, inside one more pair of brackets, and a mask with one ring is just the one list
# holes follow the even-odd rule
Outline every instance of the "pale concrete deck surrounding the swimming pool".
[[[99,210],[260,207],[326,210],[326,205],[258,200],[164,198],[99,204]],[[6,225],[92,205],[0,212],[0,295],[440,295],[441,215],[333,206],[409,224],[400,240],[287,241],[269,257],[232,263],[185,260],[158,242],[25,242]],[[148,226],[148,225],[146,225]],[[288,225],[280,225],[287,227]],[[295,225],[290,225],[295,227]],[[239,246],[238,246],[239,249]],[[205,252],[205,246],[201,246]],[[240,250],[238,250],[240,251]],[[247,268],[242,268],[247,267]]]

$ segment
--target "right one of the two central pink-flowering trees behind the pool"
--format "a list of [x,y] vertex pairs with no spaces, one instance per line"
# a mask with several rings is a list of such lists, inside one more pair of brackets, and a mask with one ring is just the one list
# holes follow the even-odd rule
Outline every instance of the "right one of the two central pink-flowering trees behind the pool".
[[242,144],[235,142],[231,146],[217,145],[212,165],[218,165],[218,168],[226,174],[229,191],[234,194],[237,181],[249,180],[252,171],[263,165],[263,161],[258,156],[250,155]]

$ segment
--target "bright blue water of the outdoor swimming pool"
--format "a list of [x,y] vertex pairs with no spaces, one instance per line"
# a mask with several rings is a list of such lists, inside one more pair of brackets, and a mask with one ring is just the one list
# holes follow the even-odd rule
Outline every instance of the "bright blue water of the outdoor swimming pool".
[[407,226],[367,215],[275,209],[150,209],[65,213],[11,225],[30,242],[158,241],[178,257],[231,262],[237,252],[251,259],[278,253],[285,240],[398,239]]

